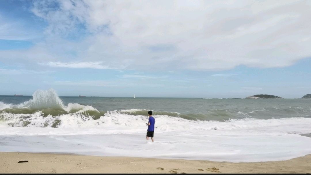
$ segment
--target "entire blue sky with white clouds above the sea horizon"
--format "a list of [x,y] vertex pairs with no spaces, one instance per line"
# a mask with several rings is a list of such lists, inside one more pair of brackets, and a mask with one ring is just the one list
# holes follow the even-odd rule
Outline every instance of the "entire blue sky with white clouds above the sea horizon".
[[0,1],[0,94],[311,93],[311,1]]

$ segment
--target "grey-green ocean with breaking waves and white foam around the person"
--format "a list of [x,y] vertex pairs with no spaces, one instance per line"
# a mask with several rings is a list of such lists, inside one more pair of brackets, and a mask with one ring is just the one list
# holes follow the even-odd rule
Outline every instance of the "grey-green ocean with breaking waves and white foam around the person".
[[[0,96],[0,151],[231,162],[311,154],[311,99]],[[146,141],[147,111],[156,120]]]

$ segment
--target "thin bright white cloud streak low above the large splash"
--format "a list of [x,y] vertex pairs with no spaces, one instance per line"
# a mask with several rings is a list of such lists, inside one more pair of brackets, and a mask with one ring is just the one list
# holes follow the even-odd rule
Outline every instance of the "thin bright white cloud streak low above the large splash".
[[71,62],[71,63],[48,62],[48,63],[39,63],[39,64],[50,66],[50,67],[59,67],[59,68],[123,69],[122,66],[109,67],[107,65],[102,65],[103,62]]

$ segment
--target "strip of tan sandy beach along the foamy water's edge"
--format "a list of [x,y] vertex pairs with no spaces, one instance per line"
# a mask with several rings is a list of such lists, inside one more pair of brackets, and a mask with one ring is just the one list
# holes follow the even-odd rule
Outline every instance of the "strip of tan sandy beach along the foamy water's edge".
[[0,173],[311,173],[311,155],[256,163],[7,152],[0,157]]

